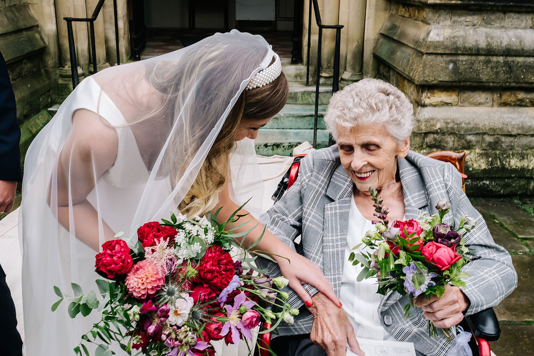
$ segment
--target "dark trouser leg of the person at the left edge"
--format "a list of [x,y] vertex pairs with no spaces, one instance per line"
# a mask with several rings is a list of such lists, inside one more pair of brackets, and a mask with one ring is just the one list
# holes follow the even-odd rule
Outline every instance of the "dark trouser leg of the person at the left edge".
[[17,331],[17,316],[11,293],[5,283],[5,273],[0,265],[0,355],[22,356],[22,340]]

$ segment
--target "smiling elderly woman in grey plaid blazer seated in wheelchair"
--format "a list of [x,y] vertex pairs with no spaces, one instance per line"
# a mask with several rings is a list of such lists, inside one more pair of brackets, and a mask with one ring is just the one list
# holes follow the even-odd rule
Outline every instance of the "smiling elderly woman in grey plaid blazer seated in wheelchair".
[[[302,160],[299,179],[269,211],[267,229],[323,270],[343,307],[307,285],[313,296],[311,306],[304,307],[290,293],[290,303],[301,313],[292,326],[279,326],[280,336],[272,342],[274,352],[345,355],[348,344],[353,352],[363,354],[357,336],[412,342],[419,355],[445,355],[450,343],[441,332],[429,337],[427,320],[449,328],[464,315],[497,305],[516,287],[511,257],[493,242],[481,214],[461,189],[458,171],[449,163],[410,151],[413,109],[400,90],[376,79],[350,84],[334,94],[325,121],[337,145]],[[417,299],[415,310],[405,319],[407,296],[376,294],[373,278],[356,281],[357,266],[348,257],[372,228],[370,187],[380,192],[389,207],[390,221],[434,214],[440,199],[451,203],[444,222],[458,225],[461,215],[477,220],[466,244],[480,259],[462,268],[471,275],[465,289],[447,285],[441,298]],[[299,235],[301,242],[295,245]],[[260,265],[279,273],[268,261]]]

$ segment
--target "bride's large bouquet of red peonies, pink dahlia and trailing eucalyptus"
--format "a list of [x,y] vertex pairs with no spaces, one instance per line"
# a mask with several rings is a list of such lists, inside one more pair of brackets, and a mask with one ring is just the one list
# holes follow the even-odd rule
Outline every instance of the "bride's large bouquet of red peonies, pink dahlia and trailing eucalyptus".
[[[234,238],[254,229],[236,232],[246,224],[235,226],[244,216],[238,211],[224,223],[216,221],[218,211],[211,218],[172,214],[171,221],[147,222],[137,230],[133,248],[122,239],[102,245],[95,267],[106,280],[96,281],[99,293],[83,294],[72,283],[74,296],[64,296],[54,286],[60,299],[52,311],[70,299],[71,318],[78,313],[87,316],[93,309],[102,313],[101,320],[82,335],[76,354],[89,356],[84,343],[94,343],[96,356],[111,356],[115,344],[129,354],[135,349],[151,356],[212,356],[213,340],[238,344],[252,339],[252,329],[260,322],[274,323],[261,333],[272,331],[281,321],[293,323],[299,311],[290,308],[287,293],[280,291],[287,279],[254,273],[250,262],[256,257],[232,259],[232,246],[240,247]],[[271,305],[281,311],[270,311]]]

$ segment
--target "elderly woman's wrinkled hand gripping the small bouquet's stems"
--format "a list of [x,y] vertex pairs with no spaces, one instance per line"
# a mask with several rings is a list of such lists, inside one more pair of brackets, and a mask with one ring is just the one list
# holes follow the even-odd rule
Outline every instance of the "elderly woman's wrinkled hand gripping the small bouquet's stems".
[[432,296],[428,300],[425,296],[419,296],[413,300],[415,306],[421,307],[425,318],[430,320],[436,328],[447,329],[458,325],[471,304],[469,298],[458,287],[445,285],[445,292],[438,298]]

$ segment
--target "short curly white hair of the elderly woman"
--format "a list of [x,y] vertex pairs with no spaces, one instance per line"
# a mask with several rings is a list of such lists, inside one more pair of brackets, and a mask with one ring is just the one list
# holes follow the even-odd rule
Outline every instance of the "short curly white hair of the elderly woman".
[[383,80],[365,78],[336,92],[325,113],[326,128],[337,141],[337,125],[383,123],[397,142],[411,135],[413,106],[402,91]]

